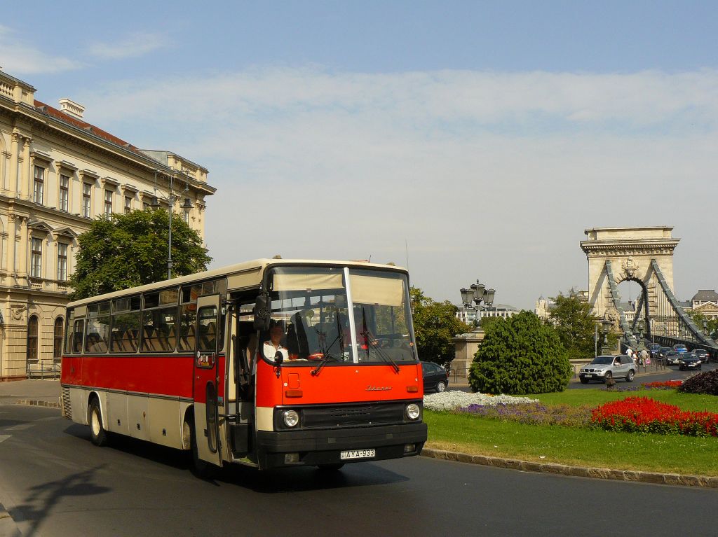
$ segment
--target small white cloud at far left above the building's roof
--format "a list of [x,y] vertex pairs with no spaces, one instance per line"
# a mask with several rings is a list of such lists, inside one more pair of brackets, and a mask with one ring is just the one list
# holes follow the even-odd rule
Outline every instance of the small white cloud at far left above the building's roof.
[[81,62],[45,54],[20,39],[17,32],[0,25],[0,66],[10,75],[30,75],[80,69]]

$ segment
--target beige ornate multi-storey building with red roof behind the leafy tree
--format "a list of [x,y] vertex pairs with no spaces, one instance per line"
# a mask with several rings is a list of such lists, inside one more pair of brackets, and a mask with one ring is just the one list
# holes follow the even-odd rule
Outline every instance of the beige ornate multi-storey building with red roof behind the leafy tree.
[[77,237],[93,219],[157,196],[204,237],[215,192],[206,168],[140,150],[86,123],[82,105],[54,108],[34,92],[0,72],[0,380],[59,361]]

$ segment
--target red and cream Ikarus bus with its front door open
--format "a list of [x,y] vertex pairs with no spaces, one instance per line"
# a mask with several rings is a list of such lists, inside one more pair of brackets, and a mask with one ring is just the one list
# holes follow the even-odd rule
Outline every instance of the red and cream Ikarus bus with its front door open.
[[256,260],[67,305],[62,414],[191,450],[198,470],[418,455],[409,275]]

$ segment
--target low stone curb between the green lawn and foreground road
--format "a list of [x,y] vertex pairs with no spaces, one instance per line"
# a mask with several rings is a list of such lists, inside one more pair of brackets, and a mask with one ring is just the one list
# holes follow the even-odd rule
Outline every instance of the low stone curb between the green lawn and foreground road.
[[660,472],[641,472],[639,470],[614,470],[611,468],[568,466],[554,462],[506,459],[504,457],[490,457],[488,455],[467,455],[466,453],[455,451],[434,450],[431,447],[424,447],[424,449],[421,450],[421,456],[496,468],[508,468],[509,470],[523,470],[525,472],[631,481],[633,483],[678,485],[681,487],[718,488],[718,477],[710,477],[708,475],[663,474]]

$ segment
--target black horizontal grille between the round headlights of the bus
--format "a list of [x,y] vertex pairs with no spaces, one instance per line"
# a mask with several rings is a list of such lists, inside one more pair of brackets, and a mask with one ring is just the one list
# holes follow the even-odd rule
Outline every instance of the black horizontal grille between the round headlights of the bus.
[[405,403],[304,407],[302,427],[378,425],[404,422]]

